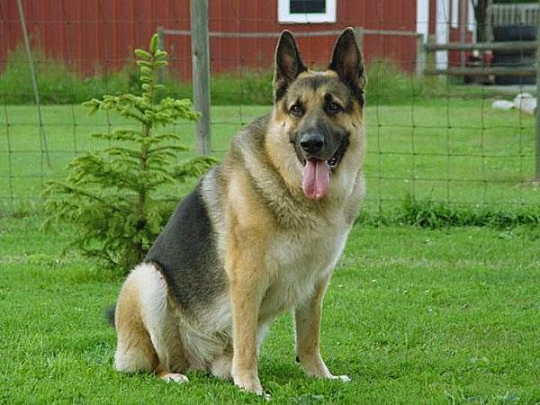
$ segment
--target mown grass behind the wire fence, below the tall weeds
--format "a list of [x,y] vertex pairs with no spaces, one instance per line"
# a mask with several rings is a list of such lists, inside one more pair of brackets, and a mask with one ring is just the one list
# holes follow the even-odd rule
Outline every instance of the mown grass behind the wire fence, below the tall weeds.
[[[269,106],[212,108],[212,148],[222,157],[229,139]],[[36,201],[43,184],[64,175],[77,153],[103,147],[90,134],[122,121],[78,105],[42,108],[51,168],[41,152],[36,110],[5,105],[0,113],[0,199],[6,206]],[[520,209],[540,201],[534,177],[534,117],[491,109],[491,99],[433,98],[409,105],[381,105],[372,96],[365,110],[368,154],[367,211],[388,214],[407,193],[419,201],[455,206]],[[193,147],[193,124],[174,130]],[[193,153],[193,152],[192,152]],[[185,157],[185,156],[184,156]],[[180,156],[179,158],[183,158]],[[178,190],[181,195],[191,187]],[[12,198],[13,197],[13,198]]]

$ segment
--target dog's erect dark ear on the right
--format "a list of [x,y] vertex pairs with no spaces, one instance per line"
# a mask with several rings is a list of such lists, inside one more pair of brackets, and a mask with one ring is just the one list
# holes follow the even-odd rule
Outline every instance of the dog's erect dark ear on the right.
[[337,72],[347,85],[362,94],[366,81],[364,60],[352,28],[339,35],[329,69]]

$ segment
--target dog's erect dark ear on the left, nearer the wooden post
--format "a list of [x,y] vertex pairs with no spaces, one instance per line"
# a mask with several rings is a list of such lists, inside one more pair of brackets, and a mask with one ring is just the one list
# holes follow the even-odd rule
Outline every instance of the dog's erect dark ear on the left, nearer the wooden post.
[[281,99],[296,76],[306,71],[296,40],[290,31],[283,31],[275,48],[274,98]]

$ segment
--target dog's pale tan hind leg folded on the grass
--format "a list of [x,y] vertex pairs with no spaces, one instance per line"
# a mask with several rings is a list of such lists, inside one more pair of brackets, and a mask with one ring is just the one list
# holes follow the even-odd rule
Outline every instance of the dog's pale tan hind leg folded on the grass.
[[166,381],[187,382],[179,374],[187,363],[173,318],[163,276],[151,264],[135,267],[116,306],[114,367],[125,373],[154,372]]

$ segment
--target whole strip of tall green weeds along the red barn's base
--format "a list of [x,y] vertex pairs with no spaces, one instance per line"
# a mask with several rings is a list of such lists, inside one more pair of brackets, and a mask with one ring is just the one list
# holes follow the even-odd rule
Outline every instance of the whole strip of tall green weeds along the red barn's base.
[[[39,49],[33,54],[42,103],[82,103],[101,94],[134,93],[138,88],[138,74],[132,67],[119,72],[83,77],[69,70],[64,63],[46,58]],[[17,48],[7,58],[4,74],[0,76],[0,99],[5,103],[33,103],[28,62],[23,48]],[[322,67],[324,68],[324,67]],[[410,103],[412,99],[433,96],[485,95],[482,87],[446,83],[438,77],[418,78],[402,73],[388,60],[376,60],[367,67],[367,101],[369,104]],[[230,72],[211,76],[213,105],[272,103],[271,69]],[[191,83],[165,75],[165,89],[160,94],[188,98],[193,94]]]

